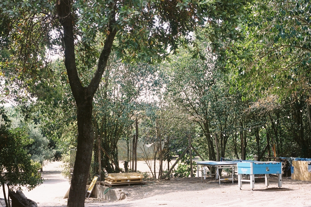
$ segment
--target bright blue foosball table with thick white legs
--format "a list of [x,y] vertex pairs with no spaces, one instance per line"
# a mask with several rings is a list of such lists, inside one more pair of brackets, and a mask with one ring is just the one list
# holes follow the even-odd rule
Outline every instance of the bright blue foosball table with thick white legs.
[[[277,174],[278,187],[282,187],[282,163],[281,162],[238,162],[238,185],[241,189],[242,182],[250,182],[253,190],[257,174],[265,174],[265,184],[269,186],[269,174]],[[242,179],[242,174],[249,175],[249,180]]]

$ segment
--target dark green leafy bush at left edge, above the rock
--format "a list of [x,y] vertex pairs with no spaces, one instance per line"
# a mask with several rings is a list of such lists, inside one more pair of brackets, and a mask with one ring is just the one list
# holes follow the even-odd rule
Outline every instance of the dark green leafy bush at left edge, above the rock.
[[15,189],[24,186],[31,190],[42,184],[38,173],[41,165],[31,160],[26,150],[29,144],[26,128],[8,129],[7,125],[0,125],[0,182],[3,187],[7,183]]

